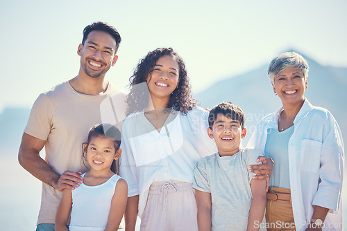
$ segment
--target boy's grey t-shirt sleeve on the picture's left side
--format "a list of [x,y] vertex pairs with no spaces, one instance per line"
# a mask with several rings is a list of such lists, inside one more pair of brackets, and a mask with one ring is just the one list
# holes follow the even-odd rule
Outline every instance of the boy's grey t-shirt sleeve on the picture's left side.
[[206,172],[205,159],[202,159],[196,163],[194,168],[194,178],[194,189],[202,192],[211,192],[210,181]]

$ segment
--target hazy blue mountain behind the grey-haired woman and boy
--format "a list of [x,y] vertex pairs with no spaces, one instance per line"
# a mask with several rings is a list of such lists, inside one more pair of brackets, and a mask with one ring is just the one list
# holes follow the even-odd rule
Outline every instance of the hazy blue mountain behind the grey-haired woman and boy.
[[[292,50],[290,50],[292,51]],[[305,93],[310,102],[328,109],[339,123],[342,136],[347,138],[347,68],[322,66],[310,57],[303,55],[310,65]],[[269,64],[242,75],[216,82],[194,95],[203,108],[212,108],[223,101],[238,104],[246,115],[246,136],[248,141],[255,124],[265,115],[278,111],[282,106],[280,98],[274,95],[271,81],[267,76]]]

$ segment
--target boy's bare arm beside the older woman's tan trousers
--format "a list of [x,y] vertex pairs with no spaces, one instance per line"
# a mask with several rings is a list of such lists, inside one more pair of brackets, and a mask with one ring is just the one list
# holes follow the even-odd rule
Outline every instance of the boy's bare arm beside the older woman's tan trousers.
[[251,181],[252,202],[249,209],[247,231],[259,230],[260,223],[264,217],[265,205],[266,205],[266,181]]

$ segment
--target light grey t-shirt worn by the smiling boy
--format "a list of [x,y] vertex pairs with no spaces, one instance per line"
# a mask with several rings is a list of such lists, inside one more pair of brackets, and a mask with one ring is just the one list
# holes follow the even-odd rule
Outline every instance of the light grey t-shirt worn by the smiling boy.
[[252,201],[248,171],[263,156],[253,148],[240,149],[232,156],[207,156],[194,169],[194,189],[209,192],[212,198],[212,230],[246,230]]

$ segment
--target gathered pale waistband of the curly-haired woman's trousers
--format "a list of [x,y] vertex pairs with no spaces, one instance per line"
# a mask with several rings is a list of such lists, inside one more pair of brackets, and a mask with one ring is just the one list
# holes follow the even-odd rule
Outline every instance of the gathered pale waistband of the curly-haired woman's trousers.
[[149,194],[173,193],[178,191],[192,190],[192,183],[183,181],[162,181],[154,182],[149,187]]

